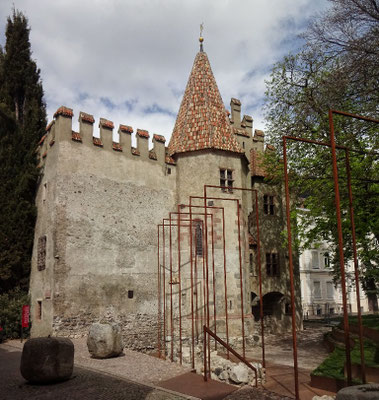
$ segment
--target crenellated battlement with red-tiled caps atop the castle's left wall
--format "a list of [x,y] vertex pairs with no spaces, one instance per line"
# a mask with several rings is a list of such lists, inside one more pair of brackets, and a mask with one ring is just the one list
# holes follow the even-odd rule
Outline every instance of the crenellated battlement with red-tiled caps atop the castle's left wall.
[[145,160],[154,164],[165,166],[175,165],[173,158],[168,156],[165,147],[166,139],[162,135],[153,134],[153,147],[149,149],[150,134],[147,130],[137,129],[135,139],[137,146],[132,146],[134,130],[129,125],[120,124],[117,135],[119,140],[114,140],[114,123],[106,118],[100,118],[99,130],[95,132],[95,118],[93,115],[81,111],[79,113],[79,131],[72,129],[74,112],[71,108],[61,106],[54,113],[54,120],[46,127],[46,134],[41,138],[36,150],[39,167],[45,163],[49,149],[57,142],[71,141],[78,146],[97,148],[101,151],[110,151],[116,157]]

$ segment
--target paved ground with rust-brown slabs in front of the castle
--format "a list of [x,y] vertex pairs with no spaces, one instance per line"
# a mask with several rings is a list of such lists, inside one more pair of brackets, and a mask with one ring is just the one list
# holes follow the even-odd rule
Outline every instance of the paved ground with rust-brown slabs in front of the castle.
[[[299,336],[299,365],[313,369],[323,359],[320,338],[324,329],[306,330]],[[0,400],[287,400],[294,397],[291,336],[266,336],[267,382],[264,388],[236,387],[221,383],[204,383],[189,374],[188,368],[125,350],[122,357],[96,360],[89,356],[85,340],[73,340],[75,368],[72,379],[54,385],[30,385],[19,372],[22,344],[0,344]],[[320,348],[321,347],[321,348]],[[255,352],[252,352],[255,353]],[[259,351],[258,353],[259,354]],[[251,353],[249,353],[251,355]],[[257,359],[258,357],[254,357]],[[282,365],[272,363],[280,362]],[[184,375],[183,375],[184,374]],[[311,400],[314,395],[330,394],[309,387],[309,370],[301,370],[300,395]],[[178,392],[185,392],[186,395]],[[191,397],[193,396],[193,397]]]

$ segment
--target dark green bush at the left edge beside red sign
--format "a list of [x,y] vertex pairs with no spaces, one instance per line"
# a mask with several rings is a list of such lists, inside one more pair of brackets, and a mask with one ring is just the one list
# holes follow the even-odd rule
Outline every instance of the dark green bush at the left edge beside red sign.
[[[0,295],[0,343],[5,339],[17,339],[21,334],[22,306],[29,304],[29,296],[20,289]],[[24,328],[24,337],[29,328]]]

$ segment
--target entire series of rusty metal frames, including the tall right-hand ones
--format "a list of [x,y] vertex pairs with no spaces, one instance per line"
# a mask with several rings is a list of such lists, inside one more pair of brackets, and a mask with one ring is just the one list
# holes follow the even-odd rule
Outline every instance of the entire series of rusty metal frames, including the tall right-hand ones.
[[[336,214],[337,214],[337,231],[338,231],[338,248],[339,248],[339,262],[340,262],[340,271],[341,271],[341,289],[342,289],[342,299],[343,299],[343,311],[344,311],[344,332],[345,332],[345,349],[346,349],[346,365],[347,365],[347,384],[351,384],[351,359],[350,359],[350,342],[349,342],[349,323],[348,323],[348,314],[347,314],[347,296],[346,296],[346,275],[344,268],[344,254],[343,254],[343,238],[342,238],[342,224],[341,224],[341,210],[340,210],[340,194],[339,194],[339,186],[338,186],[338,169],[337,169],[337,160],[336,160],[336,149],[345,151],[345,165],[347,171],[347,188],[348,188],[348,197],[349,197],[349,215],[351,221],[351,231],[352,231],[352,245],[353,245],[353,258],[354,258],[354,274],[355,274],[355,284],[356,284],[356,294],[357,294],[357,307],[358,307],[358,324],[359,324],[359,341],[360,341],[360,351],[361,351],[361,364],[362,364],[362,381],[365,382],[365,363],[364,363],[364,352],[363,352],[363,334],[362,334],[362,318],[361,318],[361,310],[360,310],[360,287],[359,287],[359,266],[357,260],[357,249],[356,249],[356,236],[355,236],[355,221],[354,221],[354,207],[353,207],[353,194],[351,189],[351,170],[350,170],[350,161],[349,161],[349,152],[354,152],[356,150],[349,149],[345,146],[339,146],[335,143],[334,137],[334,125],[333,125],[333,114],[339,114],[345,117],[356,118],[363,121],[378,123],[379,121],[373,118],[368,118],[360,115],[345,113],[337,110],[329,111],[329,122],[330,122],[330,143],[320,142],[316,140],[310,140],[306,138],[298,138],[293,136],[283,136],[283,161],[284,161],[284,183],[285,183],[285,197],[286,197],[286,220],[287,220],[287,235],[288,235],[288,258],[289,258],[289,275],[290,275],[290,294],[291,294],[291,315],[292,315],[292,344],[293,344],[293,358],[294,358],[294,382],[295,382],[295,396],[296,399],[299,399],[299,382],[298,382],[298,363],[297,363],[297,340],[296,340],[296,307],[295,307],[295,289],[294,289],[294,272],[293,272],[293,253],[292,253],[292,234],[291,234],[291,223],[290,223],[290,196],[289,196],[289,178],[287,171],[287,141],[297,141],[304,142],[308,144],[318,145],[318,146],[326,146],[331,148],[332,155],[332,167],[333,167],[333,179],[334,179],[334,190],[335,190],[335,205],[336,205]],[[365,153],[365,152],[363,152]],[[224,207],[216,207],[211,206],[207,203],[208,200],[217,200],[217,201],[233,201],[237,206],[237,226],[238,226],[238,252],[239,252],[239,277],[240,277],[240,288],[241,288],[241,335],[242,335],[242,349],[243,349],[243,359],[245,359],[245,321],[244,321],[244,298],[243,298],[243,266],[242,266],[242,250],[241,250],[241,221],[240,221],[240,201],[239,198],[228,197],[212,197],[207,194],[207,189],[228,189],[223,186],[216,185],[204,185],[204,194],[203,196],[190,196],[189,204],[181,204],[178,205],[178,211],[169,214],[169,218],[163,220],[162,224],[158,225],[158,352],[159,355],[162,356],[162,320],[163,320],[163,356],[166,355],[166,293],[165,293],[165,276],[166,276],[166,231],[165,228],[169,228],[169,272],[170,272],[170,328],[171,328],[171,360],[173,360],[173,346],[174,346],[174,324],[173,324],[173,292],[172,285],[173,276],[172,276],[172,227],[177,227],[177,250],[178,250],[178,282],[175,284],[179,285],[179,356],[180,362],[182,362],[182,315],[181,315],[181,229],[188,228],[189,229],[189,238],[190,238],[190,277],[191,277],[191,347],[192,347],[192,368],[195,368],[195,359],[194,359],[194,345],[195,345],[195,336],[196,341],[199,342],[199,329],[198,329],[198,305],[197,299],[196,305],[194,304],[194,284],[197,283],[197,260],[196,257],[193,259],[193,226],[194,222],[198,221],[193,219],[193,216],[201,216],[203,219],[200,220],[201,226],[203,228],[203,248],[204,248],[204,256],[203,256],[203,305],[204,308],[201,315],[201,322],[203,326],[201,327],[202,332],[206,332],[208,334],[208,341],[206,340],[206,335],[203,333],[203,341],[204,341],[204,362],[208,361],[208,365],[204,365],[205,371],[210,371],[210,336],[214,339],[219,339],[216,335],[216,321],[217,321],[217,310],[216,310],[216,293],[215,293],[215,256],[214,256],[214,221],[213,221],[213,213],[209,213],[208,210],[214,209],[215,211],[221,211],[222,213],[222,238],[223,238],[223,272],[224,272],[224,301],[225,301],[225,332],[226,332],[226,343],[225,347],[228,349],[229,346],[229,333],[228,333],[228,307],[227,307],[227,279],[226,279],[226,256],[225,256],[225,208]],[[263,321],[263,298],[262,298],[262,271],[261,271],[261,254],[260,254],[260,237],[259,237],[259,207],[258,207],[258,193],[256,189],[248,189],[248,188],[235,188],[232,190],[240,190],[240,191],[250,191],[251,193],[255,192],[255,217],[256,217],[256,226],[257,226],[257,259],[258,259],[258,277],[259,277],[259,296],[260,296],[260,319],[261,319],[261,340],[262,340],[262,363],[265,366],[265,348],[264,348],[264,321]],[[204,202],[203,206],[193,204],[193,200],[202,200]],[[188,212],[183,212],[182,210],[188,208]],[[204,212],[198,213],[194,212],[193,209],[203,209]],[[176,220],[172,219],[172,216],[176,215]],[[183,219],[182,216],[186,216],[187,219]],[[208,218],[211,219],[210,233],[211,233],[211,265],[212,265],[212,287],[213,287],[213,318],[215,322],[215,332],[210,330],[210,309],[209,309],[209,235],[208,235]],[[198,222],[196,222],[198,223]],[[160,236],[160,229],[162,230],[162,236]],[[163,263],[160,262],[160,247],[161,241],[160,237],[163,239]],[[163,271],[163,273],[162,273]],[[163,290],[162,290],[163,289]],[[163,292],[163,318],[162,318],[162,301],[161,294]],[[196,325],[195,325],[196,321]],[[195,335],[195,327],[196,327],[196,335]],[[200,332],[201,334],[201,332]],[[218,340],[220,343],[222,340]],[[217,348],[217,340],[215,340],[215,348]],[[208,353],[208,357],[206,355]],[[228,357],[229,357],[229,349],[228,349]],[[206,379],[206,376],[205,376]]]

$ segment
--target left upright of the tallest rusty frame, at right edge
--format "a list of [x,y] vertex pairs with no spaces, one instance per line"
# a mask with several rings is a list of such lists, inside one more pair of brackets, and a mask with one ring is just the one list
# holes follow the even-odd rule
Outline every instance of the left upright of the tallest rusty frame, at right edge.
[[338,250],[339,250],[339,263],[340,263],[340,271],[341,271],[341,289],[342,289],[343,321],[344,321],[344,333],[345,333],[347,384],[348,384],[348,386],[350,386],[352,380],[351,380],[349,319],[348,319],[348,313],[347,313],[346,276],[345,276],[345,265],[344,265],[344,254],[343,254],[341,206],[340,206],[340,193],[339,193],[339,185],[338,185],[336,143],[335,143],[335,138],[334,138],[334,125],[333,125],[332,110],[329,110],[329,129],[330,129],[330,144],[331,144],[331,149],[332,149],[332,167],[333,167],[333,179],[334,179],[335,206],[336,206],[336,214],[337,214]]

